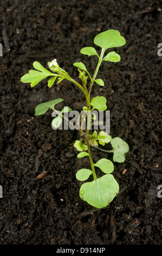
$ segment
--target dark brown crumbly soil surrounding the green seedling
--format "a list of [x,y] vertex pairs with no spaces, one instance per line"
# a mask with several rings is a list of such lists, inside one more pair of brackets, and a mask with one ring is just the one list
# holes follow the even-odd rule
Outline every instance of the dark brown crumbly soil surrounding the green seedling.
[[[160,245],[160,2],[8,0],[1,2],[0,13],[0,243]],[[48,88],[46,79],[31,88],[20,78],[35,60],[47,67],[55,58],[74,79],[74,62],[85,63],[92,74],[96,57],[80,49],[94,46],[94,36],[107,29],[118,29],[127,43],[116,48],[119,63],[101,66],[98,78],[105,87],[95,86],[92,97],[107,98],[110,135],[124,139],[130,152],[124,163],[115,163],[118,196],[96,209],[79,197],[75,174],[89,167],[73,147],[79,133],[51,129],[50,111],[34,117],[36,105],[59,97],[64,99],[60,109],[81,110],[84,95],[68,81]],[[112,159],[93,150],[94,161],[103,157]]]

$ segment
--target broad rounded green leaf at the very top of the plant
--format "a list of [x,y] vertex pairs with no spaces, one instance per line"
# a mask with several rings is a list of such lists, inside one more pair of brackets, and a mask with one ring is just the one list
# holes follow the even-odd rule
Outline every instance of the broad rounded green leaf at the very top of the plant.
[[114,29],[101,32],[94,38],[94,44],[100,46],[103,50],[112,47],[119,47],[125,45],[126,41],[124,37],[120,35],[120,32]]

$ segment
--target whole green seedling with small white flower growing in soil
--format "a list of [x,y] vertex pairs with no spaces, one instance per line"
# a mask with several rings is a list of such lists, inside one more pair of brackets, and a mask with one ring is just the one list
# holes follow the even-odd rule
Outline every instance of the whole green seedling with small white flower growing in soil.
[[[125,45],[125,43],[126,41],[124,37],[120,35],[119,31],[110,29],[96,35],[94,38],[94,44],[101,47],[100,55],[96,52],[94,47],[82,48],[80,51],[82,54],[86,54],[88,57],[96,56],[98,58],[98,63],[93,76],[90,76],[85,64],[82,62],[75,62],[73,64],[79,71],[81,84],[70,77],[67,71],[60,68],[56,59],[48,63],[48,67],[52,72],[44,68],[39,62],[34,62],[33,66],[35,70],[29,70],[29,73],[21,78],[23,83],[31,83],[31,87],[36,86],[37,83],[47,77],[51,77],[48,81],[48,87],[53,86],[56,80],[57,84],[59,84],[65,79],[75,84],[75,86],[77,86],[85,95],[87,106],[83,106],[83,111],[85,112],[84,121],[86,121],[86,129],[82,129],[80,113],[78,118],[79,129],[77,129],[80,133],[80,139],[75,141],[74,147],[80,151],[77,157],[89,157],[91,169],[83,168],[78,170],[76,173],[76,179],[83,181],[83,184],[80,187],[80,198],[95,208],[104,208],[111,203],[116,194],[119,193],[119,185],[112,175],[114,170],[113,162],[106,158],[102,158],[98,162],[94,163],[91,154],[91,147],[99,148],[99,144],[104,146],[107,143],[111,143],[112,149],[107,151],[109,153],[113,153],[113,161],[118,163],[125,161],[129,147],[128,144],[120,137],[112,138],[105,131],[100,131],[98,133],[94,130],[93,134],[90,134],[91,121],[92,119],[95,119],[95,115],[92,115],[92,111],[96,109],[100,112],[107,109],[105,97],[96,96],[91,100],[90,93],[94,84],[95,86],[96,84],[104,86],[103,80],[101,78],[96,78],[101,63],[120,61],[118,53],[111,51],[105,54],[106,50],[112,47]],[[55,128],[59,127],[62,123],[62,118],[66,118],[64,114],[72,111],[71,108],[64,107],[61,112],[57,112],[55,106],[61,101],[63,101],[63,99],[54,99],[37,105],[35,108],[35,115],[42,115],[46,113],[48,109],[52,109],[58,114],[57,117],[53,119],[52,126]],[[96,176],[96,167],[100,168],[104,173],[100,178]],[[85,182],[90,175],[93,176],[93,181]]]

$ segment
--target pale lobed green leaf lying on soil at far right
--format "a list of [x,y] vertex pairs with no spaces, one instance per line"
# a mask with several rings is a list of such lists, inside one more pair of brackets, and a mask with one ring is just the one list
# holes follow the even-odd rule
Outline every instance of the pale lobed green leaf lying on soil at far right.
[[126,155],[129,152],[128,144],[125,141],[123,141],[121,138],[115,137],[112,139],[111,145],[112,145],[113,150],[111,150],[109,152],[114,153],[113,161],[118,162],[118,163],[124,162],[126,159]]

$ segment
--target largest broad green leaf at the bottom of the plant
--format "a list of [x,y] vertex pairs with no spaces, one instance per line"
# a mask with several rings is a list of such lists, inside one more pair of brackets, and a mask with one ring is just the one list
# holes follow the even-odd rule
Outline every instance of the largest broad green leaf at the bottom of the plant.
[[112,174],[103,175],[92,182],[86,182],[80,188],[81,199],[99,209],[111,203],[118,193],[119,185]]

